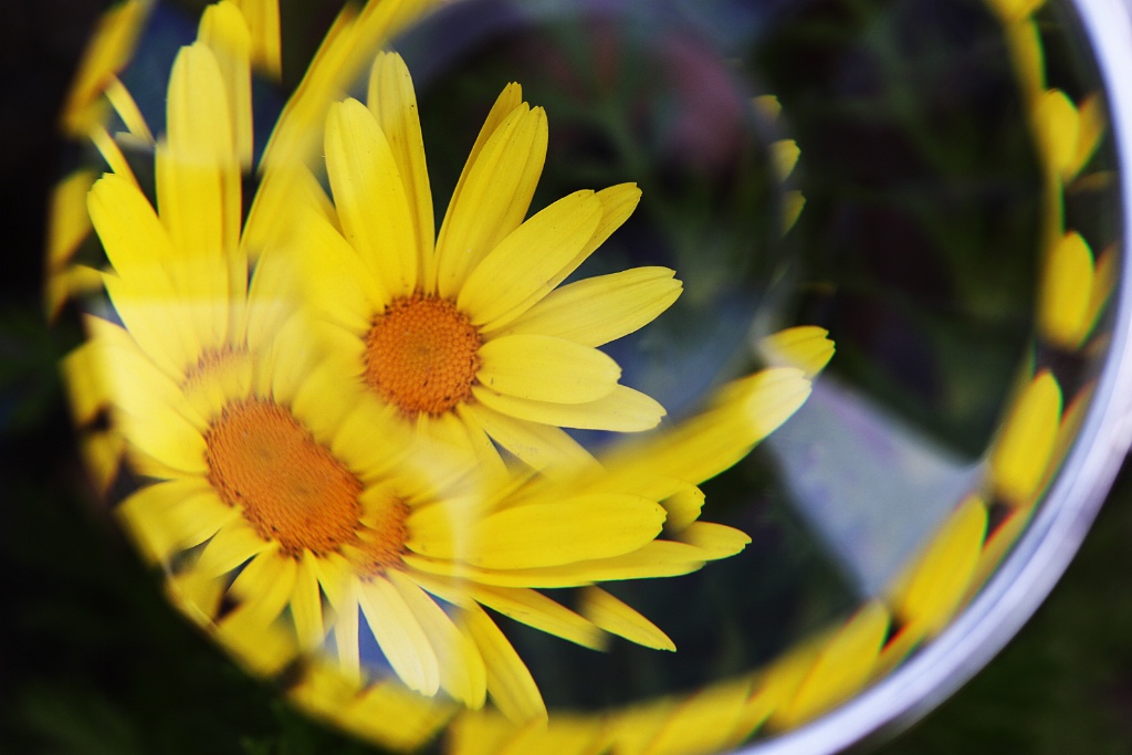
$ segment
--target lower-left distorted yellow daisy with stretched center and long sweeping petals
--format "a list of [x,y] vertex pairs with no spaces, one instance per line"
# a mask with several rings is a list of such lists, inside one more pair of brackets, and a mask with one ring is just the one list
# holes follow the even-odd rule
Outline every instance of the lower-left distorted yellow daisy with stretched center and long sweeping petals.
[[[337,343],[291,298],[293,255],[261,250],[249,281],[233,117],[247,101],[211,46],[228,35],[201,28],[171,72],[160,213],[131,177],[106,174],[88,198],[117,319],[89,318],[92,363],[147,482],[119,511],[178,606],[260,671],[325,649],[352,678],[470,707],[490,695],[516,720],[546,711],[486,608],[588,646],[616,634],[671,650],[597,585],[685,574],[746,544],[698,522],[695,484],[792,413],[804,374],[758,374],[568,481],[484,477],[474,454],[406,443],[402,410],[360,401],[365,385],[327,361]],[[540,592],[554,587],[581,587],[578,610]]]

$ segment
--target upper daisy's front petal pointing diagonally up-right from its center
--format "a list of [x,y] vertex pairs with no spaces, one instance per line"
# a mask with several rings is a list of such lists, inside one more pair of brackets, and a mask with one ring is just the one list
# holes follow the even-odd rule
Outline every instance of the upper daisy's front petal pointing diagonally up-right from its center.
[[550,293],[577,266],[574,260],[601,218],[592,191],[576,191],[520,225],[492,249],[460,290],[456,306],[472,324],[500,327]]

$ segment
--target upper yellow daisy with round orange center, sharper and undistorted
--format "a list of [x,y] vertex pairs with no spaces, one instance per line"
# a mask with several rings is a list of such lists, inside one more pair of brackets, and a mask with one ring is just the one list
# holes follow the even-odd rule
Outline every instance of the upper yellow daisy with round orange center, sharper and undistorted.
[[[679,295],[674,272],[638,267],[559,285],[633,213],[634,185],[528,208],[547,120],[507,86],[481,130],[439,234],[412,81],[380,54],[368,108],[326,126],[336,216],[297,223],[305,297],[337,331],[346,371],[427,437],[501,447],[534,469],[577,463],[561,428],[637,431],[664,410],[619,383],[598,346],[650,323]],[[305,250],[305,252],[302,251]]]

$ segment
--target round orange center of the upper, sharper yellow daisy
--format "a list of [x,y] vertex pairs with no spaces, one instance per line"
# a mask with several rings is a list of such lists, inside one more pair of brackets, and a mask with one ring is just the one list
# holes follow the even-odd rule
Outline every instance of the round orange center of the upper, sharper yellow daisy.
[[482,343],[451,301],[402,297],[366,335],[366,380],[409,414],[443,414],[472,397]]

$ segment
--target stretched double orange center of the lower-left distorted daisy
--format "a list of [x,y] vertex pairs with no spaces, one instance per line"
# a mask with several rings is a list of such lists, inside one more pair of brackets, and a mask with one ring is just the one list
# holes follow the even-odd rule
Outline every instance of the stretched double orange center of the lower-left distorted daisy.
[[255,398],[231,403],[205,445],[213,488],[282,552],[298,558],[352,546],[368,564],[386,567],[404,549],[408,506],[391,501],[363,523],[361,480],[288,409]]

